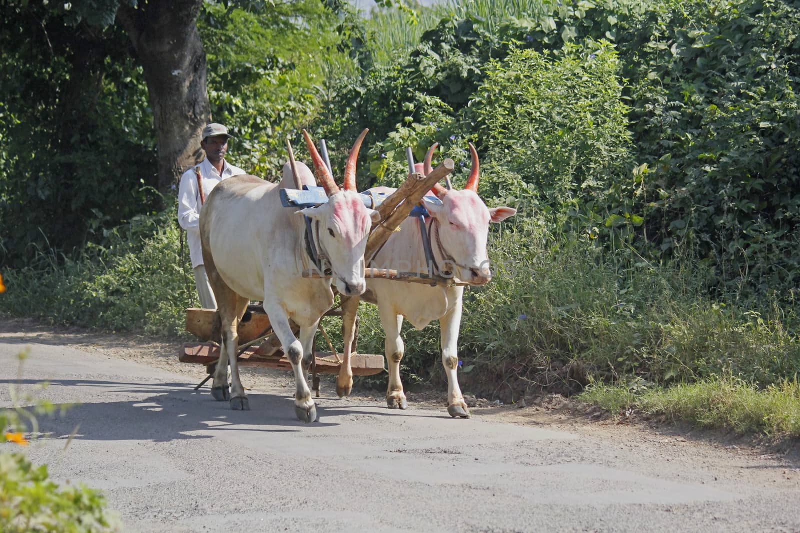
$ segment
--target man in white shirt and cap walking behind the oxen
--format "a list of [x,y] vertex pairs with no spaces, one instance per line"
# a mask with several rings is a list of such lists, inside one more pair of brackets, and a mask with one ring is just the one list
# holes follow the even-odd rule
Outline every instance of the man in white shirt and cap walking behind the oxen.
[[[211,189],[222,180],[246,172],[225,161],[228,151],[228,129],[222,124],[212,123],[202,129],[200,147],[205,150],[206,158],[198,165],[186,170],[181,176],[178,186],[178,224],[186,229],[186,241],[189,242],[189,256],[194,270],[194,283],[198,288],[200,304],[206,309],[216,309],[217,300],[208,282],[206,267],[202,264],[200,247],[200,209]],[[202,187],[198,187],[201,184]]]

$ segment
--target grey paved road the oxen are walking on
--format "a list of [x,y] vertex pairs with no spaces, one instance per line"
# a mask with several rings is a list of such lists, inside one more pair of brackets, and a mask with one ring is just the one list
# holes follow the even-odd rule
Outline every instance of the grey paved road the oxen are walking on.
[[[27,453],[102,489],[126,531],[800,531],[786,459],[363,399],[322,398],[305,425],[288,388],[232,412],[185,374],[29,345],[24,387],[49,380],[38,396],[81,404],[41,420],[51,435]],[[0,339],[0,405],[21,346]]]

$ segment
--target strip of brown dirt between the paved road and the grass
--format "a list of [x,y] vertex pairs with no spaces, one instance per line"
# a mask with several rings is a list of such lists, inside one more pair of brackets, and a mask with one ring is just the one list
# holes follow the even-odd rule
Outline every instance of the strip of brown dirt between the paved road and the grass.
[[[14,344],[51,344],[70,346],[95,352],[108,358],[147,364],[153,368],[182,374],[191,380],[202,380],[205,368],[199,364],[178,362],[180,340],[158,340],[130,333],[100,333],[82,328],[43,324],[39,320],[0,318],[0,340]],[[294,388],[288,372],[261,368],[242,368],[242,381],[247,388]],[[354,398],[383,403],[378,391],[354,391]],[[322,382],[322,396],[334,395],[332,376]],[[446,404],[446,388],[431,387],[409,392],[409,403],[416,407],[442,409]],[[758,436],[737,436],[690,428],[687,425],[645,420],[630,416],[610,416],[562,396],[550,395],[529,399],[526,407],[492,404],[477,400],[474,416],[482,420],[530,425],[570,432],[582,442],[613,442],[629,461],[654,459],[682,463],[687,469],[704,467],[731,479],[747,480],[763,487],[800,488],[800,444],[772,442]],[[632,458],[632,459],[631,459]]]

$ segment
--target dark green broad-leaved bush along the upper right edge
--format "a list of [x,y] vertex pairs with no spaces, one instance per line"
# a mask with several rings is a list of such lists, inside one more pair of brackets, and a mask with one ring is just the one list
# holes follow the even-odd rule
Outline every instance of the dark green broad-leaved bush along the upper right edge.
[[630,24],[620,49],[653,244],[695,247],[718,294],[785,299],[800,276],[800,10],[686,2]]

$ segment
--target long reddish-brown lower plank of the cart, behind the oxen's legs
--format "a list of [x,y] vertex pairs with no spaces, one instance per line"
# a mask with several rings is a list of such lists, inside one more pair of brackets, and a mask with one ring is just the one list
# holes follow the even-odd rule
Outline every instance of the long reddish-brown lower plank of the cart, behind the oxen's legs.
[[[317,372],[338,374],[339,366],[331,352],[316,352]],[[211,364],[219,359],[219,346],[212,343],[185,343],[178,352],[178,360],[182,363]],[[243,366],[261,366],[291,370],[292,365],[282,352],[274,356],[259,356],[253,350],[246,350],[238,357],[238,364]],[[371,353],[354,353],[350,356],[350,367],[354,376],[373,376],[383,372],[383,356]]]

